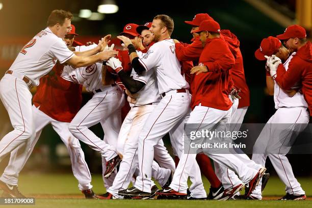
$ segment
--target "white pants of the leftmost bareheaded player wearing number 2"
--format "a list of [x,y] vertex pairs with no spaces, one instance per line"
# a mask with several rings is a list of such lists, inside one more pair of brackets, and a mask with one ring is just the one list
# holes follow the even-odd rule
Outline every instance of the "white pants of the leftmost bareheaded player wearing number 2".
[[[24,150],[17,153],[15,160],[22,161],[30,149],[31,141],[35,138],[32,94],[24,81],[11,74],[5,74],[0,81],[0,98],[14,128],[0,141],[0,161],[18,146]],[[16,184],[14,182],[11,185]]]

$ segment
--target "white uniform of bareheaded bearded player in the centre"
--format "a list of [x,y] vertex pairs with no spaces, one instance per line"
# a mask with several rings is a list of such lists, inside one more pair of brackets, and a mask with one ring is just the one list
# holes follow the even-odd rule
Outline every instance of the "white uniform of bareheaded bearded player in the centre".
[[[191,97],[187,90],[189,85],[181,75],[181,65],[176,58],[172,39],[165,39],[153,44],[139,61],[147,71],[154,71],[159,93],[165,93],[160,103],[148,116],[139,136],[140,173],[136,179],[135,187],[150,193],[154,145],[168,132],[174,135],[176,131],[179,131],[181,136],[173,138],[177,141],[173,142],[172,145],[183,143],[183,121],[190,111]],[[178,155],[181,155],[183,149],[179,148],[176,151],[178,151],[176,152]],[[195,183],[196,177],[201,179],[198,165],[195,171],[194,175],[191,176],[193,183]],[[191,191],[194,189],[197,189],[202,197],[206,197],[202,185],[191,187]]]

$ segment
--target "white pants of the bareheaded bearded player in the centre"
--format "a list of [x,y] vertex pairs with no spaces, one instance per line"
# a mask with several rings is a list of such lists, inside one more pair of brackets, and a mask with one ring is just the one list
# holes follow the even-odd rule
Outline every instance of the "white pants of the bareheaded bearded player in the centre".
[[[181,136],[173,139],[180,140],[176,141],[177,143],[183,142],[183,121],[190,110],[190,102],[191,96],[188,92],[177,93],[176,90],[169,91],[147,118],[139,137],[140,174],[136,179],[136,188],[144,192],[151,192],[151,165],[154,158],[153,147],[163,136],[168,132],[175,135],[175,131],[180,131]],[[175,145],[175,143],[172,143],[172,145]],[[177,151],[179,151],[177,152],[178,155],[183,153],[183,149],[177,149]],[[200,184],[196,180],[201,181],[198,165],[197,168],[194,170],[194,174],[190,175],[193,184]],[[203,197],[206,196],[202,183],[201,186],[190,187],[190,191],[194,193],[198,192],[198,195],[202,195]]]

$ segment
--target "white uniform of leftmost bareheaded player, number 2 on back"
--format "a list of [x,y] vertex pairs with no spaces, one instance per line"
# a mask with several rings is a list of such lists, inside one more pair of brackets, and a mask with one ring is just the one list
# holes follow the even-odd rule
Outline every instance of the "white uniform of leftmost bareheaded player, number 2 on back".
[[[65,42],[49,28],[38,33],[20,51],[9,69],[13,73],[5,74],[0,82],[0,98],[14,128],[0,141],[0,161],[20,144],[26,144],[25,148],[28,150],[35,139],[29,85],[38,85],[40,77],[47,74],[57,60],[64,63],[72,56],[74,54]],[[24,77],[31,83],[25,83]],[[24,155],[18,154],[17,157],[16,160],[19,160]]]

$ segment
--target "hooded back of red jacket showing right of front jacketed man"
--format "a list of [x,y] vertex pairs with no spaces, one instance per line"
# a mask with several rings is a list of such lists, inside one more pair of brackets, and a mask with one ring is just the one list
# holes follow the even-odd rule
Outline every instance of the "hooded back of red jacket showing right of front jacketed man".
[[221,34],[223,35],[224,40],[228,43],[228,46],[233,55],[235,54],[234,56],[236,56],[235,65],[231,70],[231,77],[235,88],[241,89],[239,95],[242,98],[239,101],[238,108],[250,106],[250,93],[245,80],[243,56],[240,50],[240,41],[236,35],[231,33],[229,30],[222,30]]

